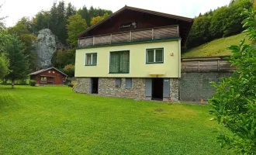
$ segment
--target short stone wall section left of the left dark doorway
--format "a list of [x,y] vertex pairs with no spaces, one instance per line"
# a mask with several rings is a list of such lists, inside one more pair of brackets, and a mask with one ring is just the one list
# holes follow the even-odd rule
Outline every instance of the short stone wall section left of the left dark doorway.
[[90,77],[78,77],[77,81],[78,84],[76,86],[76,92],[79,93],[85,93],[89,94],[90,93]]

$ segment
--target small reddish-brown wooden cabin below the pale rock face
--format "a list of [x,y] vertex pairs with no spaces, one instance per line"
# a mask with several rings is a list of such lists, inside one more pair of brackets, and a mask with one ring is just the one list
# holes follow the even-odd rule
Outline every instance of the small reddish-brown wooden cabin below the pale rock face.
[[36,84],[64,84],[67,74],[57,70],[55,67],[50,67],[40,71],[33,72],[30,75],[30,80],[36,81]]

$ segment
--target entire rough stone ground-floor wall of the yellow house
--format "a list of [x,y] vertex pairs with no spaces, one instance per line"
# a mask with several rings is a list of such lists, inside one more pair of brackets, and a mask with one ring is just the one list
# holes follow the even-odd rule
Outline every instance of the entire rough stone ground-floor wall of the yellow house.
[[[132,88],[126,88],[126,78],[121,78],[121,87],[116,86],[115,77],[99,77],[99,95],[119,98],[134,98],[137,100],[151,100],[146,98],[145,78],[131,78]],[[164,98],[165,102],[178,102],[178,78],[170,78],[170,98]],[[75,91],[78,93],[90,93],[90,77],[78,77]]]

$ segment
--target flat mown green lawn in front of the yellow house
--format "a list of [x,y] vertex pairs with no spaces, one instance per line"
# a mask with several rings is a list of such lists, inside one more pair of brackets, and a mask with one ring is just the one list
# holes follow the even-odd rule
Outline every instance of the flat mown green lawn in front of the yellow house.
[[0,154],[228,154],[208,111],[67,87],[0,85]]

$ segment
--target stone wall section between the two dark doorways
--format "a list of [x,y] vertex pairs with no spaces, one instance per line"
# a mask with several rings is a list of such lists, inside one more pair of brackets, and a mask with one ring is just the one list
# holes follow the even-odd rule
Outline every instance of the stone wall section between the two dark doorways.
[[145,99],[145,78],[132,78],[132,88],[126,88],[126,78],[121,81],[121,87],[117,88],[116,78],[99,78],[99,95]]

